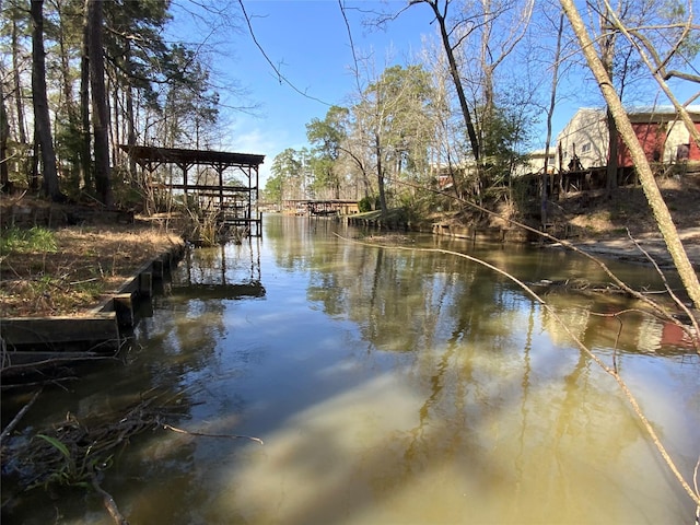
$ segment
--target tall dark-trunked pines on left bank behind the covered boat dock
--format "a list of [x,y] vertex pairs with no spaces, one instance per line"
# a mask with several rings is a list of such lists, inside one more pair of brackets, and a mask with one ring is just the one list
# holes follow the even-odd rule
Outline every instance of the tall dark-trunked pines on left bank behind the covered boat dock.
[[55,201],[128,205],[120,145],[196,147],[220,115],[198,44],[168,42],[170,0],[4,0],[0,185]]

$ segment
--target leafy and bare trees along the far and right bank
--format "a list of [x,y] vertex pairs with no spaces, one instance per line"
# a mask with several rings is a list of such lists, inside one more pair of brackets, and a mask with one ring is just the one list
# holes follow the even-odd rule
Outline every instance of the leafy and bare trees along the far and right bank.
[[[422,10],[425,25],[435,27],[434,38],[400,65],[389,58],[392,63],[377,66],[355,52],[349,103],[307,124],[308,148],[278,155],[267,200],[358,198],[386,211],[406,203],[434,206],[434,194],[416,187],[450,187],[455,197],[479,203],[518,197],[514,175],[526,172],[528,153],[541,144],[542,122],[542,156],[550,163],[544,176],[555,167],[549,160],[558,103],[575,97],[582,105],[607,106],[593,89],[597,79],[567,14],[568,3],[410,0],[398,11],[373,13],[368,23],[390,32],[392,22],[406,11]],[[673,94],[680,80],[700,79],[692,66],[700,44],[692,3],[580,3],[572,9],[585,13],[584,30],[620,100],[674,104],[697,138],[685,110],[691,101]],[[614,189],[619,132],[609,108],[607,116],[607,186]]]

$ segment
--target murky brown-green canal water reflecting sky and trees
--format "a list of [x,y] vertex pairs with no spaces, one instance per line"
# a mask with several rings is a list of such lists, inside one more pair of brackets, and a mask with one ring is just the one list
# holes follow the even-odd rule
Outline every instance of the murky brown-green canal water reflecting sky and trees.
[[[126,364],[90,366],[25,417],[28,435],[154,392],[176,399],[101,475],[131,524],[692,523],[691,499],[616,382],[550,313],[485,266],[404,248],[469,254],[526,282],[607,282],[590,260],[369,238],[325,219],[269,215],[264,226],[261,240],[190,252]],[[648,268],[609,266],[661,287]],[[545,296],[606,364],[615,359],[692,485],[700,362],[687,341],[639,313],[597,315],[637,306],[618,296],[559,287]],[[82,488],[36,489],[3,523],[112,520]]]

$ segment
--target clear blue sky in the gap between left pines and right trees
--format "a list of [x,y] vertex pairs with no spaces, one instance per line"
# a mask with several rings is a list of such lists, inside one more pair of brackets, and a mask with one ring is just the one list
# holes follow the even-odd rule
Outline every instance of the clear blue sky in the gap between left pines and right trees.
[[[231,12],[238,13],[237,0],[229,1]],[[185,1],[182,5],[186,4]],[[366,14],[352,8],[369,11],[386,10],[388,5],[398,11],[406,0],[345,0],[345,4],[355,52],[371,54],[380,72],[392,63],[407,63],[407,57],[420,50],[423,36],[432,37],[435,31],[427,5],[406,10],[386,31],[381,31],[365,27],[362,21]],[[305,125],[313,118],[323,119],[329,104],[347,105],[357,85],[351,73],[353,55],[337,0],[244,0],[244,5],[258,44],[293,88],[277,77],[243,19],[235,22],[238,31],[222,28],[210,35],[207,43],[214,50],[212,68],[219,81],[246,89],[248,102],[259,105],[254,115],[225,112],[219,143],[211,144],[211,149],[265,154],[260,168],[260,186],[265,187],[275,156],[288,148],[299,150],[306,145]],[[172,31],[176,37],[200,42],[211,32],[211,23],[202,24],[177,9],[175,13]],[[229,101],[225,91],[222,90],[224,103],[241,103]],[[561,102],[555,136],[579,106],[599,104],[593,90],[590,95]]]

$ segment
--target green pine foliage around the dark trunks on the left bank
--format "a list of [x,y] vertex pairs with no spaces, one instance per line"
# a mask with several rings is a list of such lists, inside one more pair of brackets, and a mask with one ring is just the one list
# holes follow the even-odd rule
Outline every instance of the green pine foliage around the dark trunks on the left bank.
[[[104,2],[105,77],[112,108],[110,140],[127,143],[142,137],[159,145],[184,145],[183,142],[207,140],[219,118],[219,94],[211,80],[211,67],[203,51],[206,46],[173,44],[166,39],[166,26],[172,20],[170,0],[113,0]],[[90,164],[92,151],[90,130],[83,129],[81,98],[81,56],[83,51],[83,0],[44,2],[44,32],[48,102],[52,119],[52,142],[60,170],[60,191],[72,198],[94,191]],[[13,182],[28,180],[33,166],[21,162],[19,148],[31,142],[32,128],[20,128],[31,114],[31,74],[26,57],[31,54],[28,3],[9,2],[0,22],[0,46],[7,88],[15,78],[12,68],[19,65],[21,74],[16,90],[4,91],[10,108],[9,163]],[[7,58],[4,58],[7,57]],[[12,58],[19,59],[16,62]],[[30,65],[31,66],[31,65]],[[231,86],[229,86],[231,89]],[[88,97],[88,106],[90,100]],[[24,116],[20,118],[18,112]],[[90,116],[88,116],[90,120]],[[110,144],[116,149],[116,144]],[[116,161],[121,155],[116,155]],[[84,173],[88,172],[88,173]],[[122,173],[112,173],[118,183]],[[130,182],[131,173],[125,180]],[[39,182],[40,185],[40,182]],[[119,196],[132,203],[131,194]],[[121,205],[121,200],[116,203]]]

